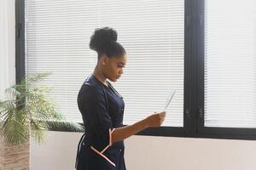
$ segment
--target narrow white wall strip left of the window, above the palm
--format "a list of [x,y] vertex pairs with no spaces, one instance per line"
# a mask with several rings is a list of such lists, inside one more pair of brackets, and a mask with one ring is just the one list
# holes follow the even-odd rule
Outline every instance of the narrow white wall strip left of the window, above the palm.
[[0,0],[0,99],[15,83],[15,0]]

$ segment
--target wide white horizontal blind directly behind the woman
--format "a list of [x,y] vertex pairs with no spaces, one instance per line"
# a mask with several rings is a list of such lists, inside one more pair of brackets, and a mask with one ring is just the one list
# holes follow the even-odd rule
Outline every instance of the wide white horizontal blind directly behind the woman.
[[128,62],[113,86],[125,99],[124,123],[161,111],[171,89],[164,126],[183,127],[183,0],[26,0],[27,75],[50,71],[41,85],[68,121],[82,122],[77,94],[96,65],[89,48],[95,28],[113,27]]

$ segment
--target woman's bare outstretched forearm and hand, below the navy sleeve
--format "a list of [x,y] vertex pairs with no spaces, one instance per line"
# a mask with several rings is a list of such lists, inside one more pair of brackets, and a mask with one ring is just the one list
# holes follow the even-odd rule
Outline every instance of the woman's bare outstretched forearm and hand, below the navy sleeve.
[[160,127],[160,125],[164,122],[165,117],[166,112],[154,113],[140,122],[136,122],[125,127],[116,128],[112,133],[112,142],[115,143],[124,140],[148,127]]

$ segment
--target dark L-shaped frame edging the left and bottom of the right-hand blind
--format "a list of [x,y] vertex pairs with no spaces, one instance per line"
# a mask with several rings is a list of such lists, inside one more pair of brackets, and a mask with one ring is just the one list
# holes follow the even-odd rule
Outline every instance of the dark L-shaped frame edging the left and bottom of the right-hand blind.
[[197,136],[203,138],[217,138],[217,139],[250,139],[256,140],[256,128],[244,127],[205,127],[204,126],[204,60],[205,60],[205,0],[197,0],[198,4],[198,24],[197,24],[197,68],[196,82],[197,82]]

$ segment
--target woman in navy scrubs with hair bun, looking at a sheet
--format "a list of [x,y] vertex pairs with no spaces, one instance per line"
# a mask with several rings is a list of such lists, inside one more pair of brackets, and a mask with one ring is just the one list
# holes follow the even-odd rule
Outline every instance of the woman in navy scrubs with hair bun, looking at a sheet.
[[126,65],[125,48],[117,42],[112,28],[96,29],[90,49],[98,54],[93,74],[87,77],[78,95],[85,133],[80,139],[77,170],[125,170],[123,140],[147,127],[159,127],[166,113],[154,113],[130,126],[123,125],[125,103],[110,82],[116,82]]

